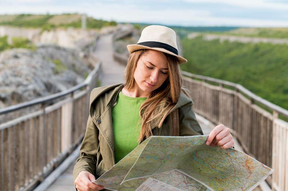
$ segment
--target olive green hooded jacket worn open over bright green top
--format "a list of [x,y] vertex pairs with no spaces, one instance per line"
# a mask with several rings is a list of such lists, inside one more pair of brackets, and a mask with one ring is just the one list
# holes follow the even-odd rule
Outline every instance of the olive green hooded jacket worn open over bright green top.
[[[74,166],[73,182],[80,171],[88,171],[97,179],[115,165],[111,115],[112,107],[116,105],[117,96],[123,87],[124,84],[120,83],[94,88],[91,91],[90,115],[80,148],[80,157]],[[178,108],[180,136],[203,135],[192,105],[193,101],[181,91],[177,104],[170,111],[171,113]],[[158,111],[161,112],[161,109]],[[161,128],[152,127],[152,132],[157,136],[172,136],[170,115],[166,117]]]

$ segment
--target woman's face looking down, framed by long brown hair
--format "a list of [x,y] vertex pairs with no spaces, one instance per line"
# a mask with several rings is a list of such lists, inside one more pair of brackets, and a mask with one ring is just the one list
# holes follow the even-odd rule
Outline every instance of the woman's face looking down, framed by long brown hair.
[[143,94],[159,88],[168,78],[168,63],[163,52],[156,50],[145,50],[140,57],[134,72],[134,79]]

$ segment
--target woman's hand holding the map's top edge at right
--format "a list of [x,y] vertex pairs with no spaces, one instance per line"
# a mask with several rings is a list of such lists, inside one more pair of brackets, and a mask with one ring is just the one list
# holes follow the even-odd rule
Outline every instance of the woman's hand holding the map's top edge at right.
[[220,146],[220,148],[231,148],[234,146],[234,141],[230,133],[230,129],[223,124],[217,125],[209,134],[206,145]]

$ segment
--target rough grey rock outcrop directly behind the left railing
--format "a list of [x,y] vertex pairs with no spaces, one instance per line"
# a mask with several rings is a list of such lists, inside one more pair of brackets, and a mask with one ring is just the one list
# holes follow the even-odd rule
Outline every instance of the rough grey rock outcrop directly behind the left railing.
[[79,53],[57,45],[0,54],[0,108],[67,90],[91,72]]

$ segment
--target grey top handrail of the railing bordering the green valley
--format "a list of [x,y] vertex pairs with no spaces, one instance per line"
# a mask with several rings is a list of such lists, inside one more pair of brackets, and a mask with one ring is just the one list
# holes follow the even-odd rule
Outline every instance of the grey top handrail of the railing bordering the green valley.
[[208,77],[208,76],[192,74],[192,73],[189,73],[189,72],[186,72],[186,71],[181,71],[181,73],[184,76],[188,76],[190,78],[198,78],[198,79],[206,80],[206,81],[209,81],[209,82],[216,82],[216,83],[219,83],[219,84],[222,84],[222,85],[234,87],[236,89],[236,91],[240,91],[240,92],[246,94],[247,96],[249,96],[252,99],[252,101],[257,101],[259,103],[262,103],[263,105],[267,106],[268,108],[270,108],[270,109],[272,109],[274,111],[277,111],[278,113],[281,113],[282,115],[285,115],[286,117],[288,117],[288,110],[286,110],[286,109],[284,109],[284,108],[282,108],[282,107],[280,107],[278,105],[275,105],[274,103],[271,103],[270,101],[267,101],[267,100],[263,99],[262,97],[257,96],[256,94],[252,93],[251,91],[249,91],[248,89],[246,89],[245,87],[243,87],[240,84],[236,84],[236,83],[233,83],[233,82],[228,82],[228,81],[225,81],[225,80],[219,80],[219,79],[211,78],[211,77]]

